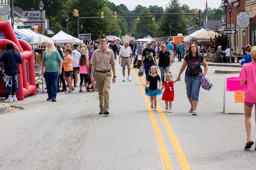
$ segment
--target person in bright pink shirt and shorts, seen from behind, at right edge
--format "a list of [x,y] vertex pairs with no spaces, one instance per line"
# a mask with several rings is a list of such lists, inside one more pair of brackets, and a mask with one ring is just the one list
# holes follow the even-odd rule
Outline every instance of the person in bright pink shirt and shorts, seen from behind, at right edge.
[[[250,149],[254,142],[251,140],[251,115],[252,107],[256,104],[256,46],[251,49],[252,62],[244,64],[240,72],[240,83],[245,84],[244,90],[244,123],[247,134],[247,141],[244,149]],[[255,107],[256,113],[256,107]],[[256,148],[255,148],[256,150]]]

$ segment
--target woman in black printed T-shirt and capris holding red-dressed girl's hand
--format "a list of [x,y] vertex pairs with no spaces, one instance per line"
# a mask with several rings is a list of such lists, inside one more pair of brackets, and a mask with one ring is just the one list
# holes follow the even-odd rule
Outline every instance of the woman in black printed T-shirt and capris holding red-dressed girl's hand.
[[180,81],[180,75],[187,66],[185,72],[185,83],[188,100],[191,105],[189,112],[192,113],[192,115],[197,115],[196,106],[198,104],[198,96],[202,78],[202,68],[200,66],[201,63],[204,66],[204,75],[206,75],[208,70],[206,60],[202,55],[199,54],[197,45],[195,43],[190,44],[188,54],[184,58],[177,80]]

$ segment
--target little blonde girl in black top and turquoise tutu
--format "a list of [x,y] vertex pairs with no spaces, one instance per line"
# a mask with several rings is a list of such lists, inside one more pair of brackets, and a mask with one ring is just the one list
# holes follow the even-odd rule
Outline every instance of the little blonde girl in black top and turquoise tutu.
[[[163,92],[161,91],[161,86],[162,86],[162,81],[160,76],[158,75],[157,72],[157,67],[156,66],[151,66],[150,67],[150,72],[151,74],[148,75],[146,83],[145,83],[145,92],[147,96],[150,96],[150,102],[151,102],[151,109],[154,107],[154,111],[157,111],[156,109],[156,96],[162,94]],[[149,87],[147,87],[149,83]],[[159,89],[157,87],[157,82],[159,82]],[[153,106],[154,105],[154,106]]]

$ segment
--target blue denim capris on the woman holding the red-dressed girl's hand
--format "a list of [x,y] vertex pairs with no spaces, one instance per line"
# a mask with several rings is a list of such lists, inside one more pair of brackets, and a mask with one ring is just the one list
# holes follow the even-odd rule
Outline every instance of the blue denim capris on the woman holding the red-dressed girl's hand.
[[188,99],[198,101],[199,90],[201,86],[201,78],[200,76],[187,76],[185,75],[185,83]]

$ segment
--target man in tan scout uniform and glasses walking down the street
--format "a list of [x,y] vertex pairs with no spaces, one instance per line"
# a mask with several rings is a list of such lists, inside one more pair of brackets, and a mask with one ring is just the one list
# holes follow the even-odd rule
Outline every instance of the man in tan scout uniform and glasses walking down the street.
[[[97,83],[97,88],[99,92],[100,101],[100,112],[102,115],[109,115],[109,89],[111,84],[111,68],[113,71],[112,83],[116,82],[116,69],[114,53],[111,49],[106,46],[107,38],[102,35],[99,38],[100,48],[96,49],[92,54],[90,64],[92,64],[91,75],[93,75],[94,69],[96,70],[95,79]],[[91,81],[94,82],[94,77],[91,77]]]

